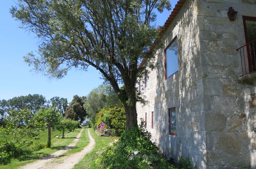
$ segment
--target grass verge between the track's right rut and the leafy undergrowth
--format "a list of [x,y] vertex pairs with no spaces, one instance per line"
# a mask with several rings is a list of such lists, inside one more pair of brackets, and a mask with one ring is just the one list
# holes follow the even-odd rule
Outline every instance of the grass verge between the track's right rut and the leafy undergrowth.
[[78,164],[74,166],[75,169],[78,168],[101,168],[99,165],[95,163],[95,159],[97,158],[97,152],[103,149],[106,145],[111,143],[116,139],[116,137],[99,137],[93,131],[93,129],[89,129],[92,137],[95,139],[95,146],[92,152],[88,153],[83,160],[81,160]]

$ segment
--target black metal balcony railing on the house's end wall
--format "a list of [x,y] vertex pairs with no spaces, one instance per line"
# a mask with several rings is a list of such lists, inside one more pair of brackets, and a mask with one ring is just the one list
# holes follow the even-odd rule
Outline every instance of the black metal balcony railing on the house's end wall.
[[242,75],[256,72],[256,39],[237,49],[240,52]]

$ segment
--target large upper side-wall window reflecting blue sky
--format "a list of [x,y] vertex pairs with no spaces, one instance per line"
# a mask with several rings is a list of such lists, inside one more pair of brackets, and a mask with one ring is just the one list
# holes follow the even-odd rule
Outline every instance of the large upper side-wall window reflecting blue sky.
[[175,37],[165,49],[165,79],[178,72],[178,44]]

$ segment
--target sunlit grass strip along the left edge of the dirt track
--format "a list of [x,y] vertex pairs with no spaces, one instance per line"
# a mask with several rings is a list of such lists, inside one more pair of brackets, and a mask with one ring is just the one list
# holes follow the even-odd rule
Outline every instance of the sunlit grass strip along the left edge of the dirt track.
[[[18,168],[19,166],[26,165],[27,163],[33,162],[37,159],[43,158],[47,155],[50,155],[58,150],[63,149],[65,146],[70,144],[74,138],[76,138],[77,134],[81,131],[81,129],[76,129],[74,132],[67,133],[64,139],[52,139],[52,147],[51,149],[44,148],[40,151],[35,151],[31,155],[20,156],[17,159],[12,159],[11,163],[7,165],[0,165],[1,169],[11,169]],[[55,134],[52,133],[52,137],[54,138]],[[42,136],[41,136],[42,137]],[[40,139],[41,140],[41,139]],[[47,136],[43,137],[41,143],[47,143]]]

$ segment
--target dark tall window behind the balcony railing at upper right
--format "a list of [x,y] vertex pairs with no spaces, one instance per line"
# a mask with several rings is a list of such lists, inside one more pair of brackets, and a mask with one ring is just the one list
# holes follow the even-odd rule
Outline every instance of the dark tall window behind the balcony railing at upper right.
[[256,71],[256,17],[243,16],[249,72]]

